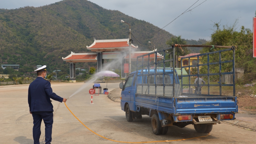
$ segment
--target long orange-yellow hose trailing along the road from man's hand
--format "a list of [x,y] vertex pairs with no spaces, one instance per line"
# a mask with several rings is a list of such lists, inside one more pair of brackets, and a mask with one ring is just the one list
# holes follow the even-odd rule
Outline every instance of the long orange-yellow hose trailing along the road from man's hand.
[[[66,105],[66,103],[65,103],[65,105]],[[66,107],[67,107],[67,105],[66,105]],[[67,107],[67,109],[70,111],[70,109]],[[70,111],[71,113],[72,113],[72,111]],[[72,115],[74,115],[74,113],[72,113]],[[75,118],[77,118],[75,115],[74,115],[74,117]],[[79,120],[78,118],[77,118],[77,120]],[[80,120],[79,120],[79,122],[81,122]],[[83,122],[81,122],[81,124],[83,124]],[[85,126],[86,127],[86,125],[84,125],[83,124],[83,126]],[[87,129],[89,129],[88,127],[86,127]],[[89,129],[90,130],[90,129]],[[93,132],[94,134],[97,134],[97,133],[95,133],[94,131],[92,131],[92,130],[90,130],[91,132]],[[97,134],[98,136],[100,136],[100,137],[102,137],[102,138],[105,138],[104,136],[101,136],[101,135],[99,135],[99,134]],[[207,135],[207,136],[209,136],[210,135],[210,133]],[[195,138],[202,138],[202,137],[206,137],[206,136],[199,136],[199,137],[195,137]],[[111,139],[109,139],[109,138],[105,138],[105,139],[107,139],[107,140],[109,140],[109,141],[115,141],[115,140],[111,140]],[[179,140],[166,140],[166,141],[182,141],[182,140],[189,140],[189,139],[194,139],[194,138],[186,138],[186,139],[179,139]],[[127,141],[115,141],[115,142],[119,142],[119,143],[156,143],[156,142],[166,142],[166,141],[146,141],[146,142],[127,142]]]

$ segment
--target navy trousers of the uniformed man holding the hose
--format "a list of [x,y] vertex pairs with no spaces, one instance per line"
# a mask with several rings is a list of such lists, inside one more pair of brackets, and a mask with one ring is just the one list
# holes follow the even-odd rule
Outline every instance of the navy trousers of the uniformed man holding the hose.
[[33,116],[33,139],[34,144],[40,144],[39,138],[41,135],[41,122],[45,123],[45,144],[51,143],[51,131],[53,124],[53,112],[52,111],[35,111],[32,112]]

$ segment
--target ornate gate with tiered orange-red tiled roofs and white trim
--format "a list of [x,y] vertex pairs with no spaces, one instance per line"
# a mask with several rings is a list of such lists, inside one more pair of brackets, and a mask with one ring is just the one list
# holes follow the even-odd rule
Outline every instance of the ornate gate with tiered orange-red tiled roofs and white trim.
[[[116,40],[94,40],[93,44],[87,47],[94,53],[74,53],[65,58],[63,61],[70,63],[70,81],[76,82],[76,68],[78,62],[97,62],[97,72],[104,69],[104,59],[118,59],[120,60],[121,77],[126,78],[124,73],[124,64],[129,62],[129,39],[116,39]],[[136,50],[138,46],[131,44],[131,48]],[[150,53],[152,51],[134,51],[131,52],[131,60],[136,61],[137,56]],[[157,54],[157,60],[162,59],[163,56]],[[126,61],[128,59],[128,61]],[[154,61],[154,54],[150,55],[150,59]]]

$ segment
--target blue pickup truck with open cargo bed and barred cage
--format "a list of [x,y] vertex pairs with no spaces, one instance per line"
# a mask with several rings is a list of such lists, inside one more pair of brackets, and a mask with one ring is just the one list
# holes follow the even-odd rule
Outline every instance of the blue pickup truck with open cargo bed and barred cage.
[[[186,45],[187,46],[187,45]],[[207,47],[206,45],[202,47]],[[212,46],[209,46],[212,47]],[[218,46],[215,46],[218,47]],[[223,47],[223,46],[219,46]],[[225,47],[227,48],[227,47]],[[170,48],[169,48],[170,49]],[[193,57],[198,57],[197,65],[183,66],[181,68],[198,67],[198,74],[181,75],[182,77],[204,76],[208,77],[207,84],[184,84],[185,86],[206,86],[208,87],[208,94],[193,94],[182,93],[183,84],[179,83],[179,78],[175,68],[158,67],[160,63],[165,65],[167,62],[175,63],[175,59],[165,60],[165,52],[168,49],[162,49],[157,52],[163,52],[164,58],[160,62],[150,62],[150,54],[137,57],[137,70],[131,72],[125,83],[120,83],[121,93],[121,109],[125,111],[126,120],[132,122],[134,119],[141,119],[142,115],[149,115],[151,119],[151,127],[154,134],[166,134],[169,126],[178,126],[180,128],[186,125],[194,125],[198,133],[209,133],[213,125],[221,123],[221,120],[234,120],[235,113],[238,113],[237,97],[235,94],[235,84],[210,84],[210,76],[220,76],[223,74],[233,74],[232,72],[222,72],[222,63],[231,63],[234,69],[234,47],[214,51],[206,54],[199,54]],[[175,48],[173,46],[173,54]],[[221,52],[232,51],[233,60],[219,62],[209,62],[209,55],[219,54]],[[199,63],[202,56],[208,56],[207,63]],[[192,57],[192,56],[191,56]],[[141,58],[141,59],[140,59]],[[147,58],[147,59],[146,59]],[[190,57],[187,57],[190,59]],[[184,57],[183,59],[186,59]],[[210,65],[219,64],[219,73],[211,73]],[[151,65],[155,67],[150,68]],[[208,72],[206,74],[200,73],[200,67],[206,65]],[[162,66],[162,65],[161,65]],[[138,70],[138,68],[141,68]],[[234,77],[233,77],[234,78]],[[211,94],[210,87],[219,86],[219,95]],[[222,87],[229,86],[233,88],[233,96],[222,95]]]

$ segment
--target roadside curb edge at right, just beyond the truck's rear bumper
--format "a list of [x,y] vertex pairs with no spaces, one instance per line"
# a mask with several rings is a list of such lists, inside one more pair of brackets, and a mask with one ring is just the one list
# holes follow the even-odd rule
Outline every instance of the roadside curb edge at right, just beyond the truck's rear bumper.
[[228,123],[228,124],[232,124],[232,125],[236,125],[238,127],[245,128],[247,130],[256,131],[256,124],[246,122],[246,121],[243,121],[243,120],[223,120],[223,122]]

